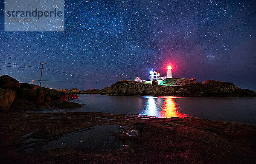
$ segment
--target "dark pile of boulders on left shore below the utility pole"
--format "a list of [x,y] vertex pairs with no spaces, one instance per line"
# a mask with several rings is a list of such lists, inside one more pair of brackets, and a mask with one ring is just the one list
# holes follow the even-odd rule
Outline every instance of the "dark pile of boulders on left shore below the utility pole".
[[20,107],[81,107],[68,102],[78,98],[74,93],[52,90],[27,83],[20,83],[11,76],[0,76],[0,110]]

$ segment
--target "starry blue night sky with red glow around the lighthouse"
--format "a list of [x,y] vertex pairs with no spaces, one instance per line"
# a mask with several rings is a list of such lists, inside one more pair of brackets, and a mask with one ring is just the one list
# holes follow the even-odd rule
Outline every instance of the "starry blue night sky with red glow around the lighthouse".
[[254,0],[66,0],[64,32],[4,31],[3,0],[0,17],[0,76],[20,82],[40,79],[39,62],[42,86],[83,90],[172,65],[175,78],[256,90]]

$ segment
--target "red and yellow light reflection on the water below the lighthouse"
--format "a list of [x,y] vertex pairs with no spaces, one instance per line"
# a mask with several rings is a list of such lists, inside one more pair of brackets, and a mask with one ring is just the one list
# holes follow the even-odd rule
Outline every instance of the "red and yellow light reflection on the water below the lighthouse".
[[163,98],[163,108],[159,111],[161,117],[190,117],[179,111],[179,106],[175,101],[177,97],[163,96],[159,98]]

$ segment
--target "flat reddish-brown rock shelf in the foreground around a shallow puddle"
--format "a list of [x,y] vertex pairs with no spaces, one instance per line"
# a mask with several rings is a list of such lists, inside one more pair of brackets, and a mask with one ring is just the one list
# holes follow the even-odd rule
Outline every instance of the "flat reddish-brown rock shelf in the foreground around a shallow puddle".
[[[126,146],[76,148],[84,142],[77,136],[79,141],[69,147],[45,148],[64,134],[104,124],[127,126],[109,136]],[[197,118],[2,110],[0,139],[1,163],[256,163],[255,126]]]

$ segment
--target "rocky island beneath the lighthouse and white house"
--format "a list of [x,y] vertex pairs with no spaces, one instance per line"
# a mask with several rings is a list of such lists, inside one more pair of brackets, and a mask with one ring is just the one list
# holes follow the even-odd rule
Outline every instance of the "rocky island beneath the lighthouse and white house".
[[88,89],[87,94],[134,95],[134,96],[256,96],[253,90],[241,89],[231,82],[207,80],[196,82],[195,79],[178,79],[174,86],[151,85],[144,82],[119,81],[102,90]]

